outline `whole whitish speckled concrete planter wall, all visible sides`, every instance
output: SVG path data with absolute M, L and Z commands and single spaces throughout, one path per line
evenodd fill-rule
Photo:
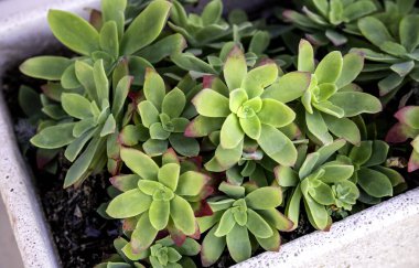
M 0 1 L 0 83 L 11 63 L 55 44 L 46 24 L 50 8 L 84 15 L 98 0 Z M 28 268 L 60 267 L 32 174 L 15 142 L 0 97 L 0 192 Z M 332 226 L 235 267 L 419 267 L 419 189 L 401 194 Z

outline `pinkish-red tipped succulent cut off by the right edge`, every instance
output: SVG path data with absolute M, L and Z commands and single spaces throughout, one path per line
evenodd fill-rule
M 408 163 L 408 171 L 413 172 L 419 169 L 419 106 L 406 106 L 395 117 L 399 122 L 388 131 L 386 141 L 399 143 L 413 139 L 410 143 L 413 150 Z

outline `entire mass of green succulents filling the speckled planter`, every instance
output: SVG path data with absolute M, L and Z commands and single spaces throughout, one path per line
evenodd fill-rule
M 207 267 L 226 253 L 239 262 L 278 250 L 301 215 L 326 231 L 336 215 L 402 191 L 386 165 L 390 147 L 365 121 L 417 81 L 412 2 L 302 1 L 304 14 L 283 12 L 307 33 L 293 33 L 287 68 L 276 28 L 238 10 L 225 19 L 221 0 L 200 14 L 179 1 L 103 0 L 90 22 L 50 11 L 75 54 L 25 61 L 22 73 L 46 84 L 42 94 L 22 87 L 20 103 L 40 168 L 63 151 L 65 187 L 110 178 L 103 214 L 123 224 L 117 254 L 98 267 Z M 412 139 L 413 172 L 419 108 L 396 118 L 386 141 Z

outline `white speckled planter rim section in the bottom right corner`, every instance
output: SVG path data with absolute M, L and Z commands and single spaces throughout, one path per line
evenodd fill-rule
M 419 267 L 419 189 L 354 214 L 235 268 Z

